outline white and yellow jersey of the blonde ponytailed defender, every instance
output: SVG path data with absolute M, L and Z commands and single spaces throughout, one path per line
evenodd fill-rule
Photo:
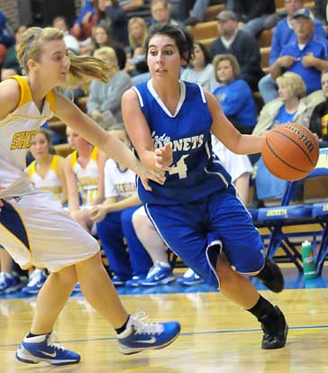
M 14 112 L 0 121 L 0 198 L 22 196 L 32 190 L 26 168 L 26 152 L 35 130 L 49 120 L 55 110 L 55 97 L 50 91 L 42 110 L 32 101 L 25 77 L 13 76 L 21 88 L 21 99 Z

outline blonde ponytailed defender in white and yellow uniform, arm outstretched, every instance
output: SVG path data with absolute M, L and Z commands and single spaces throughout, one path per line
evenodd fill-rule
M 50 276 L 39 293 L 31 331 L 16 352 L 25 363 L 77 363 L 80 356 L 53 342 L 53 325 L 77 280 L 96 310 L 114 327 L 124 354 L 167 346 L 178 337 L 179 323 L 144 323 L 126 313 L 101 262 L 99 246 L 59 200 L 32 186 L 25 155 L 34 132 L 55 115 L 125 167 L 145 180 L 159 183 L 159 171 L 148 171 L 123 142 L 105 132 L 55 89 L 84 78 L 106 81 L 110 68 L 104 61 L 71 55 L 63 33 L 32 27 L 17 47 L 26 76 L 0 83 L 0 237 L 1 244 L 22 268 L 48 268 Z

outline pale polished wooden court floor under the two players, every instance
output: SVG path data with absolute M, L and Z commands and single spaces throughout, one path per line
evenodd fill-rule
M 124 356 L 114 332 L 82 296 L 73 297 L 56 326 L 59 341 L 82 355 L 79 364 L 23 364 L 14 351 L 29 330 L 34 298 L 0 300 L 0 372 L 328 373 L 328 288 L 261 294 L 287 316 L 287 346 L 261 350 L 260 325 L 219 293 L 122 296 L 126 307 L 150 320 L 178 320 L 177 341 L 165 350 Z

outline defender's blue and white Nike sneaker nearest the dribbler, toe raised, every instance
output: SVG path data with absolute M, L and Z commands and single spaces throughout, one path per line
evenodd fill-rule
M 131 315 L 125 331 L 118 334 L 119 349 L 124 355 L 163 349 L 178 338 L 179 323 L 145 323 L 144 319 L 144 313 Z

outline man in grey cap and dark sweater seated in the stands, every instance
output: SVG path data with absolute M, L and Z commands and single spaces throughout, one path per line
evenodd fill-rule
M 211 59 L 217 54 L 232 54 L 241 67 L 241 79 L 256 91 L 263 76 L 258 41 L 251 34 L 238 29 L 237 17 L 232 11 L 218 14 L 217 28 L 220 36 L 210 46 Z

